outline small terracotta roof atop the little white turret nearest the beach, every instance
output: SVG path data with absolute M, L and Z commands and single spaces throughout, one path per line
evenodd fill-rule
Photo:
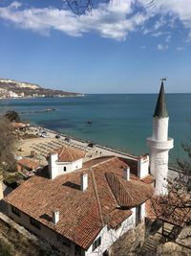
M 59 162 L 74 162 L 78 159 L 84 158 L 85 151 L 74 149 L 70 146 L 64 146 L 57 151 Z

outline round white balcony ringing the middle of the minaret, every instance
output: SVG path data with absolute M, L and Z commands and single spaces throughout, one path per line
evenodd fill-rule
M 167 141 L 156 141 L 152 137 L 147 138 L 147 146 L 157 151 L 169 151 L 174 148 L 174 139 L 168 138 Z

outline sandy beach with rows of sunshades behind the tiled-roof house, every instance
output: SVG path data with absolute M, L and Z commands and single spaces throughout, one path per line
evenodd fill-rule
M 40 137 L 36 134 L 46 134 L 46 137 Z M 86 152 L 84 161 L 96 158 L 102 155 L 119 155 L 127 158 L 137 158 L 137 156 L 115 151 L 100 145 L 90 145 L 86 141 L 69 137 L 66 134 L 60 134 L 50 129 L 40 127 L 30 127 L 25 134 L 35 135 L 35 138 L 20 139 L 17 144 L 16 154 L 21 157 L 31 157 L 40 161 L 42 165 L 47 164 L 46 156 L 49 152 L 55 151 L 63 146 L 71 146 L 74 149 Z M 58 137 L 58 138 L 55 138 Z

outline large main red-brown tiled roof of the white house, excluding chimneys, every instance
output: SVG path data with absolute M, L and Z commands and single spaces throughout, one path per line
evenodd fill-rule
M 128 209 L 122 209 L 117 202 L 106 174 L 117 176 L 124 190 L 131 192 L 132 201 L 126 206 L 142 203 L 152 196 L 151 185 L 134 179 L 126 181 L 122 177 L 126 163 L 117 157 L 102 157 L 87 162 L 83 169 L 53 180 L 35 175 L 15 189 L 6 201 L 31 216 L 55 232 L 87 249 L 96 239 L 103 225 L 116 227 L 131 215 Z M 131 167 L 131 166 L 130 166 Z M 88 174 L 88 188 L 80 190 L 80 175 Z M 110 176 L 110 175 L 109 175 Z M 119 196 L 120 198 L 120 196 Z M 53 224 L 52 211 L 59 211 L 60 220 Z

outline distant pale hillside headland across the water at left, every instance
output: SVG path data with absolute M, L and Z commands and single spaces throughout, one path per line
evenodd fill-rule
M 36 98 L 36 97 L 77 97 L 81 93 L 64 92 L 43 88 L 37 84 L 23 81 L 0 79 L 0 98 Z

